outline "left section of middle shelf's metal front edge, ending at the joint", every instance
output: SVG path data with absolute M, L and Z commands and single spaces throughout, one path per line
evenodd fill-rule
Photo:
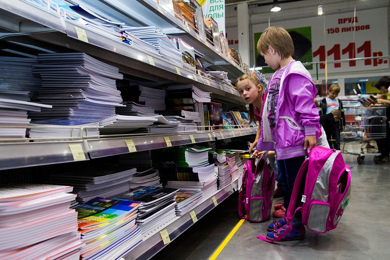
M 89 160 L 83 140 L 0 143 L 0 170 L 75 161 L 69 146 L 74 144 Z

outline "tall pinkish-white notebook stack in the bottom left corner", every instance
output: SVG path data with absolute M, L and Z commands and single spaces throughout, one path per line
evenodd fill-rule
M 0 189 L 0 259 L 78 259 L 83 245 L 70 186 Z

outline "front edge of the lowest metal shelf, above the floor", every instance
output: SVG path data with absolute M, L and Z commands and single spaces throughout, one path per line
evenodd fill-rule
M 216 206 L 212 200 L 215 197 L 217 203 L 221 203 L 223 200 L 228 198 L 238 189 L 238 180 L 232 181 L 227 186 L 218 190 L 215 194 L 211 195 L 209 198 L 203 199 L 203 202 L 197 205 L 193 210 L 195 211 L 196 218 L 199 220 L 205 216 L 209 211 L 214 209 Z M 217 205 L 218 206 L 218 205 Z M 179 235 L 186 231 L 189 227 L 194 224 L 190 213 L 187 213 L 184 216 L 176 217 L 173 220 L 168 221 L 167 223 L 157 227 L 153 232 L 144 236 L 144 241 L 139 244 L 133 251 L 124 257 L 125 260 L 128 259 L 150 259 L 157 252 L 163 249 L 166 245 L 162 241 L 160 231 L 166 229 L 170 240 L 175 240 Z

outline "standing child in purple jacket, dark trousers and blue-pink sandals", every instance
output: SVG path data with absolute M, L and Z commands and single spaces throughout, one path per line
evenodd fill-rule
M 307 151 L 320 137 L 318 109 L 314 104 L 317 89 L 307 69 L 300 61 L 292 59 L 294 45 L 285 29 L 267 28 L 257 42 L 257 51 L 271 68 L 276 69 L 267 87 L 257 150 L 275 150 L 278 181 L 287 210 L 299 168 Z M 273 221 L 268 226 L 267 239 L 274 240 L 282 234 L 286 224 L 285 216 Z M 305 232 L 302 215 L 297 211 L 292 220 L 292 231 L 281 241 L 304 239 Z

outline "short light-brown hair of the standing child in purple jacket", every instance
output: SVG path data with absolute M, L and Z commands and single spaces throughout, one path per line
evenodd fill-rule
M 282 27 L 268 27 L 265 29 L 257 42 L 257 52 L 266 54 L 269 46 L 273 47 L 282 59 L 292 57 L 294 54 L 292 38 Z

